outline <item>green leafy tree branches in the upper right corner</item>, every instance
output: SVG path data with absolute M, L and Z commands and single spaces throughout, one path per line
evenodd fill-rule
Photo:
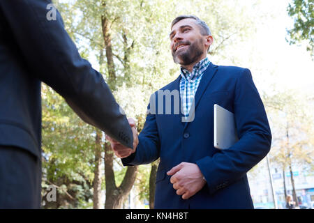
M 311 52 L 311 56 L 313 56 L 314 50 L 313 3 L 313 0 L 294 0 L 287 7 L 288 15 L 294 19 L 293 29 L 287 30 L 290 38 L 287 42 L 296 44 L 301 43 L 302 40 L 306 40 L 308 42 L 306 49 Z

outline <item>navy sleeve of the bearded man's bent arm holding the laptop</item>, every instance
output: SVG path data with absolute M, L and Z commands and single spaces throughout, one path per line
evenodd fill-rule
M 244 69 L 237 79 L 234 118 L 239 141 L 231 148 L 215 153 L 213 157 L 204 157 L 196 162 L 207 180 L 210 193 L 245 176 L 267 155 L 271 147 L 267 115 L 248 69 Z

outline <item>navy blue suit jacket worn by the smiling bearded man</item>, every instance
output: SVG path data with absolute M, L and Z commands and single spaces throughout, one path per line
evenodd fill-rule
M 180 78 L 162 90 L 179 91 Z M 214 148 L 215 103 L 233 112 L 237 125 L 239 141 L 225 150 Z M 250 70 L 211 63 L 195 94 L 194 120 L 184 123 L 181 116 L 173 109 L 148 114 L 137 151 L 122 159 L 124 165 L 138 165 L 160 157 L 155 208 L 253 208 L 246 172 L 269 152 L 271 130 Z M 197 164 L 207 180 L 187 200 L 166 174 L 181 162 Z

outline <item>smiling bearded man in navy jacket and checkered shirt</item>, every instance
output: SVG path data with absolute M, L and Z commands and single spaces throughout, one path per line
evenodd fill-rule
M 154 93 L 136 150 L 108 137 L 112 149 L 124 165 L 160 158 L 155 208 L 253 208 L 246 173 L 269 152 L 271 130 L 251 72 L 211 63 L 213 38 L 195 16 L 177 17 L 170 41 L 181 75 Z M 237 126 L 239 141 L 224 150 L 214 148 L 214 104 Z

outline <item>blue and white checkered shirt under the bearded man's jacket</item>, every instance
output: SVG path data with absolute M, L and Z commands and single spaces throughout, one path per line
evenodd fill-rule
M 180 96 L 181 96 L 181 105 L 183 109 L 183 114 L 185 117 L 188 116 L 190 112 L 190 107 L 194 100 L 197 87 L 200 84 L 202 75 L 207 69 L 211 62 L 206 57 L 202 61 L 198 62 L 193 66 L 193 71 L 188 72 L 188 70 L 181 68 L 181 80 L 180 80 Z

